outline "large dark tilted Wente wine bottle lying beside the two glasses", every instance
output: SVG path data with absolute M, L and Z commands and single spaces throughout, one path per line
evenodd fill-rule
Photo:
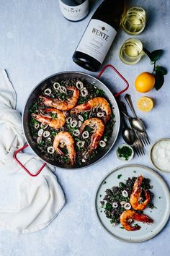
M 124 0 L 104 0 L 86 27 L 73 61 L 84 69 L 97 72 L 120 27 Z

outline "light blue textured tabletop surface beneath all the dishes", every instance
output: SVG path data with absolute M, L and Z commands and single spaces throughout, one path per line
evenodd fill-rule
M 93 1 L 88 17 L 81 22 L 68 22 L 58 10 L 57 0 L 0 0 L 0 68 L 6 69 L 17 91 L 17 108 L 22 111 L 30 90 L 40 80 L 55 72 L 79 70 L 71 60 L 73 51 L 89 22 L 95 7 Z M 148 13 L 146 29 L 137 37 L 148 50 L 164 49 L 159 61 L 169 68 L 170 7 L 169 0 L 133 0 Z M 135 92 L 134 80 L 143 71 L 152 71 L 150 61 L 144 57 L 139 64 L 127 66 L 118 58 L 124 40 L 130 36 L 120 31 L 105 61 L 113 64 L 130 82 L 129 93 L 133 101 L 141 96 Z M 90 72 L 87 72 L 90 73 Z M 94 74 L 97 75 L 97 74 Z M 119 90 L 116 77 L 107 72 L 104 77 L 113 90 Z M 112 82 L 114 80 L 114 82 Z M 155 100 L 155 108 L 148 114 L 138 112 L 146 121 L 151 142 L 170 137 L 169 131 L 169 74 L 160 91 L 147 93 Z M 119 136 L 114 148 L 99 163 L 81 171 L 56 170 L 58 180 L 66 194 L 66 206 L 47 229 L 35 234 L 17 235 L 0 229 L 0 256 L 167 256 L 170 250 L 170 223 L 155 238 L 140 244 L 125 244 L 109 236 L 99 225 L 94 212 L 94 192 L 102 177 L 112 168 L 122 165 L 115 156 L 115 148 L 122 143 Z M 146 156 L 135 156 L 130 163 L 152 167 Z M 170 174 L 161 174 L 170 183 Z M 9 187 L 12 189 L 12 187 Z

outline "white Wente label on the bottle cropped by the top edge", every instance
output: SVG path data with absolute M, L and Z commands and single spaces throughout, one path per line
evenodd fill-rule
M 72 21 L 81 20 L 84 17 L 86 17 L 86 15 L 89 12 L 89 1 L 88 0 L 84 1 L 83 4 L 79 4 L 76 7 L 70 7 L 67 4 L 63 4 L 63 2 L 61 0 L 59 0 L 59 4 L 61 7 L 61 13 L 68 20 L 72 20 Z

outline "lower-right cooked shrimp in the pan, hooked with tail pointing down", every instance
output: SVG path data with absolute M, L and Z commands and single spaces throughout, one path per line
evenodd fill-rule
M 83 132 L 86 125 L 91 125 L 94 127 L 94 134 L 91 136 L 91 144 L 89 145 L 89 153 L 96 149 L 99 145 L 99 141 L 103 135 L 104 132 L 104 124 L 101 119 L 94 117 L 91 119 L 88 119 L 84 121 L 84 123 L 81 125 L 80 132 Z

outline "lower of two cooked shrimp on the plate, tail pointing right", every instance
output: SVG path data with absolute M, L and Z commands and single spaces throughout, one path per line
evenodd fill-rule
M 153 220 L 145 214 L 139 214 L 135 210 L 124 210 L 120 216 L 120 223 L 124 229 L 128 231 L 135 231 L 140 229 L 140 226 L 130 226 L 130 223 L 135 221 L 141 221 L 143 223 L 153 223 Z

